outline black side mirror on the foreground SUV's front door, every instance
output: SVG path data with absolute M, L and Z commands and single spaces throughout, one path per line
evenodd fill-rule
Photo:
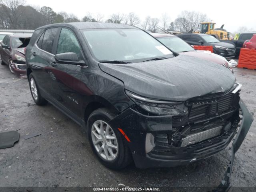
M 83 60 L 79 60 L 77 54 L 74 52 L 59 53 L 59 54 L 56 54 L 54 58 L 56 62 L 60 64 L 81 65 L 81 66 L 85 65 L 85 62 Z

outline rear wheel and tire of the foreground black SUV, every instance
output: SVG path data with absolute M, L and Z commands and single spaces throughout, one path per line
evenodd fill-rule
M 45 100 L 40 94 L 40 90 L 38 89 L 36 80 L 35 80 L 32 73 L 30 73 L 28 81 L 29 81 L 30 92 L 31 92 L 31 95 L 32 95 L 32 98 L 33 98 L 34 102 L 37 105 L 47 104 L 47 100 Z

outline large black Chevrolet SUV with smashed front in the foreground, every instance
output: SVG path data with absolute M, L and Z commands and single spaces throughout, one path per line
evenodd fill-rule
M 38 28 L 26 69 L 36 104 L 48 101 L 85 127 L 92 150 L 113 169 L 132 160 L 146 168 L 206 158 L 232 140 L 240 109 L 240 140 L 252 123 L 230 70 L 178 55 L 133 26 Z

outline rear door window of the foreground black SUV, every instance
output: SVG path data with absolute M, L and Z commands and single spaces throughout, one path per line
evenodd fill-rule
M 50 28 L 46 29 L 44 32 L 44 38 L 42 41 L 42 50 L 45 50 L 46 52 L 52 53 L 52 47 L 54 39 L 56 38 L 58 28 Z

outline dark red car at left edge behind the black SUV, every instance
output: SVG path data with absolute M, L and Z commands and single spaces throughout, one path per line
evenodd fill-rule
M 0 43 L 1 64 L 8 65 L 12 74 L 26 76 L 25 48 L 32 34 L 8 34 Z

